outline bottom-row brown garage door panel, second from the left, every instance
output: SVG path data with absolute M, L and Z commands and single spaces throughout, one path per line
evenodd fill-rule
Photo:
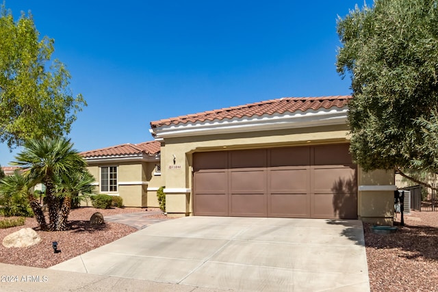
M 267 217 L 265 194 L 231 194 L 230 216 Z

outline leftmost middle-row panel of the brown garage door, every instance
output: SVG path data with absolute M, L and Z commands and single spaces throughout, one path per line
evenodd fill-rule
M 227 194 L 228 173 L 221 171 L 198 172 L 194 179 L 194 187 L 197 192 L 214 192 Z

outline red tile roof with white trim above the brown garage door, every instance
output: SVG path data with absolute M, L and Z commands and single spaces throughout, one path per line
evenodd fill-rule
M 151 122 L 156 140 L 346 124 L 352 96 L 284 97 Z

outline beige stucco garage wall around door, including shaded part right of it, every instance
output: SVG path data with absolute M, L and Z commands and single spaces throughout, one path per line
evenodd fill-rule
M 162 176 L 166 185 L 166 211 L 170 216 L 192 215 L 192 153 L 281 146 L 348 143 L 344 125 L 275 131 L 166 138 L 161 149 Z M 173 162 L 175 155 L 175 163 Z M 394 185 L 391 172 L 365 173 L 359 170 L 358 185 Z M 394 191 L 361 191 L 359 218 L 392 224 Z

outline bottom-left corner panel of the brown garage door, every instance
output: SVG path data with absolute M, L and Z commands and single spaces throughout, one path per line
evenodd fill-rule
M 196 194 L 194 211 L 199 216 L 228 216 L 228 194 Z

